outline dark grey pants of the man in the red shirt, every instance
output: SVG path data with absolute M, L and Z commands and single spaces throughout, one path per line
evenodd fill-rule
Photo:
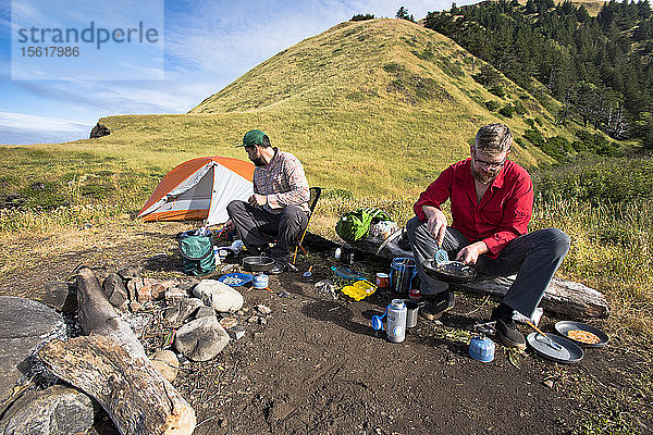
M 432 259 L 438 250 L 438 244 L 427 229 L 427 224 L 412 217 L 406 224 L 406 231 L 412 245 L 422 295 L 446 290 L 448 285 L 427 275 L 421 265 L 424 260 Z M 467 245 L 470 241 L 460 232 L 446 228 L 442 249 L 448 252 L 451 260 Z M 530 316 L 568 251 L 569 236 L 565 233 L 556 228 L 539 229 L 510 240 L 495 259 L 486 254 L 479 256 L 475 268 L 478 273 L 491 276 L 509 276 L 516 273 L 517 278 L 508 288 L 503 302 Z

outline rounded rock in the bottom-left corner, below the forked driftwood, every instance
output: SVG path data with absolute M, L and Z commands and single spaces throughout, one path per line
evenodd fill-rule
M 0 421 L 2 434 L 85 434 L 93 425 L 90 397 L 63 385 L 27 391 Z

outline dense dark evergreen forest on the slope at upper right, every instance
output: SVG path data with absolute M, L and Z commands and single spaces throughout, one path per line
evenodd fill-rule
M 554 0 L 453 3 L 448 12 L 429 12 L 424 26 L 456 40 L 535 97 L 545 86 L 563 103 L 558 123 L 575 119 L 653 149 L 648 0 L 611 0 L 596 17 L 569 0 L 557 5 Z M 476 78 L 491 82 L 489 75 L 480 71 Z

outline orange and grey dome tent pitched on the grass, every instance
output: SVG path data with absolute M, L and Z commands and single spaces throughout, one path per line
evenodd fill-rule
M 138 217 L 144 221 L 207 220 L 226 222 L 226 206 L 254 194 L 254 164 L 229 157 L 188 160 L 168 173 Z

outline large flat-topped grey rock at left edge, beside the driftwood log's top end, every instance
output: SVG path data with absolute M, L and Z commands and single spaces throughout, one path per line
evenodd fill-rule
M 53 338 L 65 338 L 61 314 L 29 299 L 0 296 L 0 415 L 23 376 L 27 357 Z

